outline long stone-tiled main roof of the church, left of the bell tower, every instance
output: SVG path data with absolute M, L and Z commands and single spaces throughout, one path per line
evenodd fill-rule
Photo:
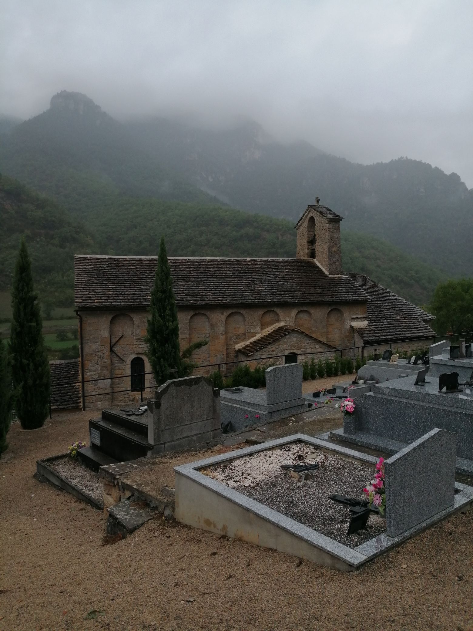
M 149 306 L 156 257 L 74 257 L 76 309 Z M 309 259 L 169 257 L 177 305 L 366 302 L 349 276 L 327 276 Z

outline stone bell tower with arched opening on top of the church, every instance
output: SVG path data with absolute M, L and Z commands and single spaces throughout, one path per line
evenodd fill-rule
M 322 206 L 318 198 L 296 223 L 297 259 L 313 259 L 329 274 L 342 274 L 340 222 L 342 217 Z

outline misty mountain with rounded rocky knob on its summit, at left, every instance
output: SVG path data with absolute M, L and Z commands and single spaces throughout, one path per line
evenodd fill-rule
M 78 213 L 110 195 L 215 201 L 143 151 L 93 100 L 62 91 L 49 110 L 1 136 L 0 172 Z

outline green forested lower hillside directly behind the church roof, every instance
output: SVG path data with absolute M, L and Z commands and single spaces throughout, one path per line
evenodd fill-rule
M 43 301 L 73 304 L 74 254 L 156 255 L 161 235 L 170 256 L 295 256 L 296 232 L 287 220 L 232 208 L 156 199 L 104 196 L 86 225 L 49 198 L 0 177 L 0 292 L 11 283 L 21 235 Z M 368 274 L 417 304 L 428 302 L 445 276 L 386 242 L 342 235 L 345 271 Z

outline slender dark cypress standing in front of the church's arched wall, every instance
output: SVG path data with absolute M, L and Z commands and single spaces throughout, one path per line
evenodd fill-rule
M 176 377 L 177 374 L 171 373 L 170 370 L 179 370 L 180 367 L 179 323 L 164 237 L 161 237 L 144 341 L 148 345 L 148 359 L 156 383 L 160 386 L 166 380 Z

